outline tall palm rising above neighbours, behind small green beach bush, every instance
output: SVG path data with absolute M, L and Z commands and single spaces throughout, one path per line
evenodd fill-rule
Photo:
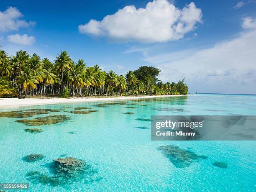
M 61 54 L 56 56 L 56 69 L 61 73 L 61 92 L 64 90 L 64 70 L 70 69 L 70 65 L 72 63 L 72 60 L 70 59 L 70 56 L 67 54 L 67 51 L 61 51 Z

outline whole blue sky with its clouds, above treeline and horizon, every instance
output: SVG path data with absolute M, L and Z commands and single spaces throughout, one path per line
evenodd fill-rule
M 151 1 L 5 0 L 0 45 L 51 60 L 66 50 L 118 74 L 152 65 L 190 92 L 256 94 L 256 1 Z

